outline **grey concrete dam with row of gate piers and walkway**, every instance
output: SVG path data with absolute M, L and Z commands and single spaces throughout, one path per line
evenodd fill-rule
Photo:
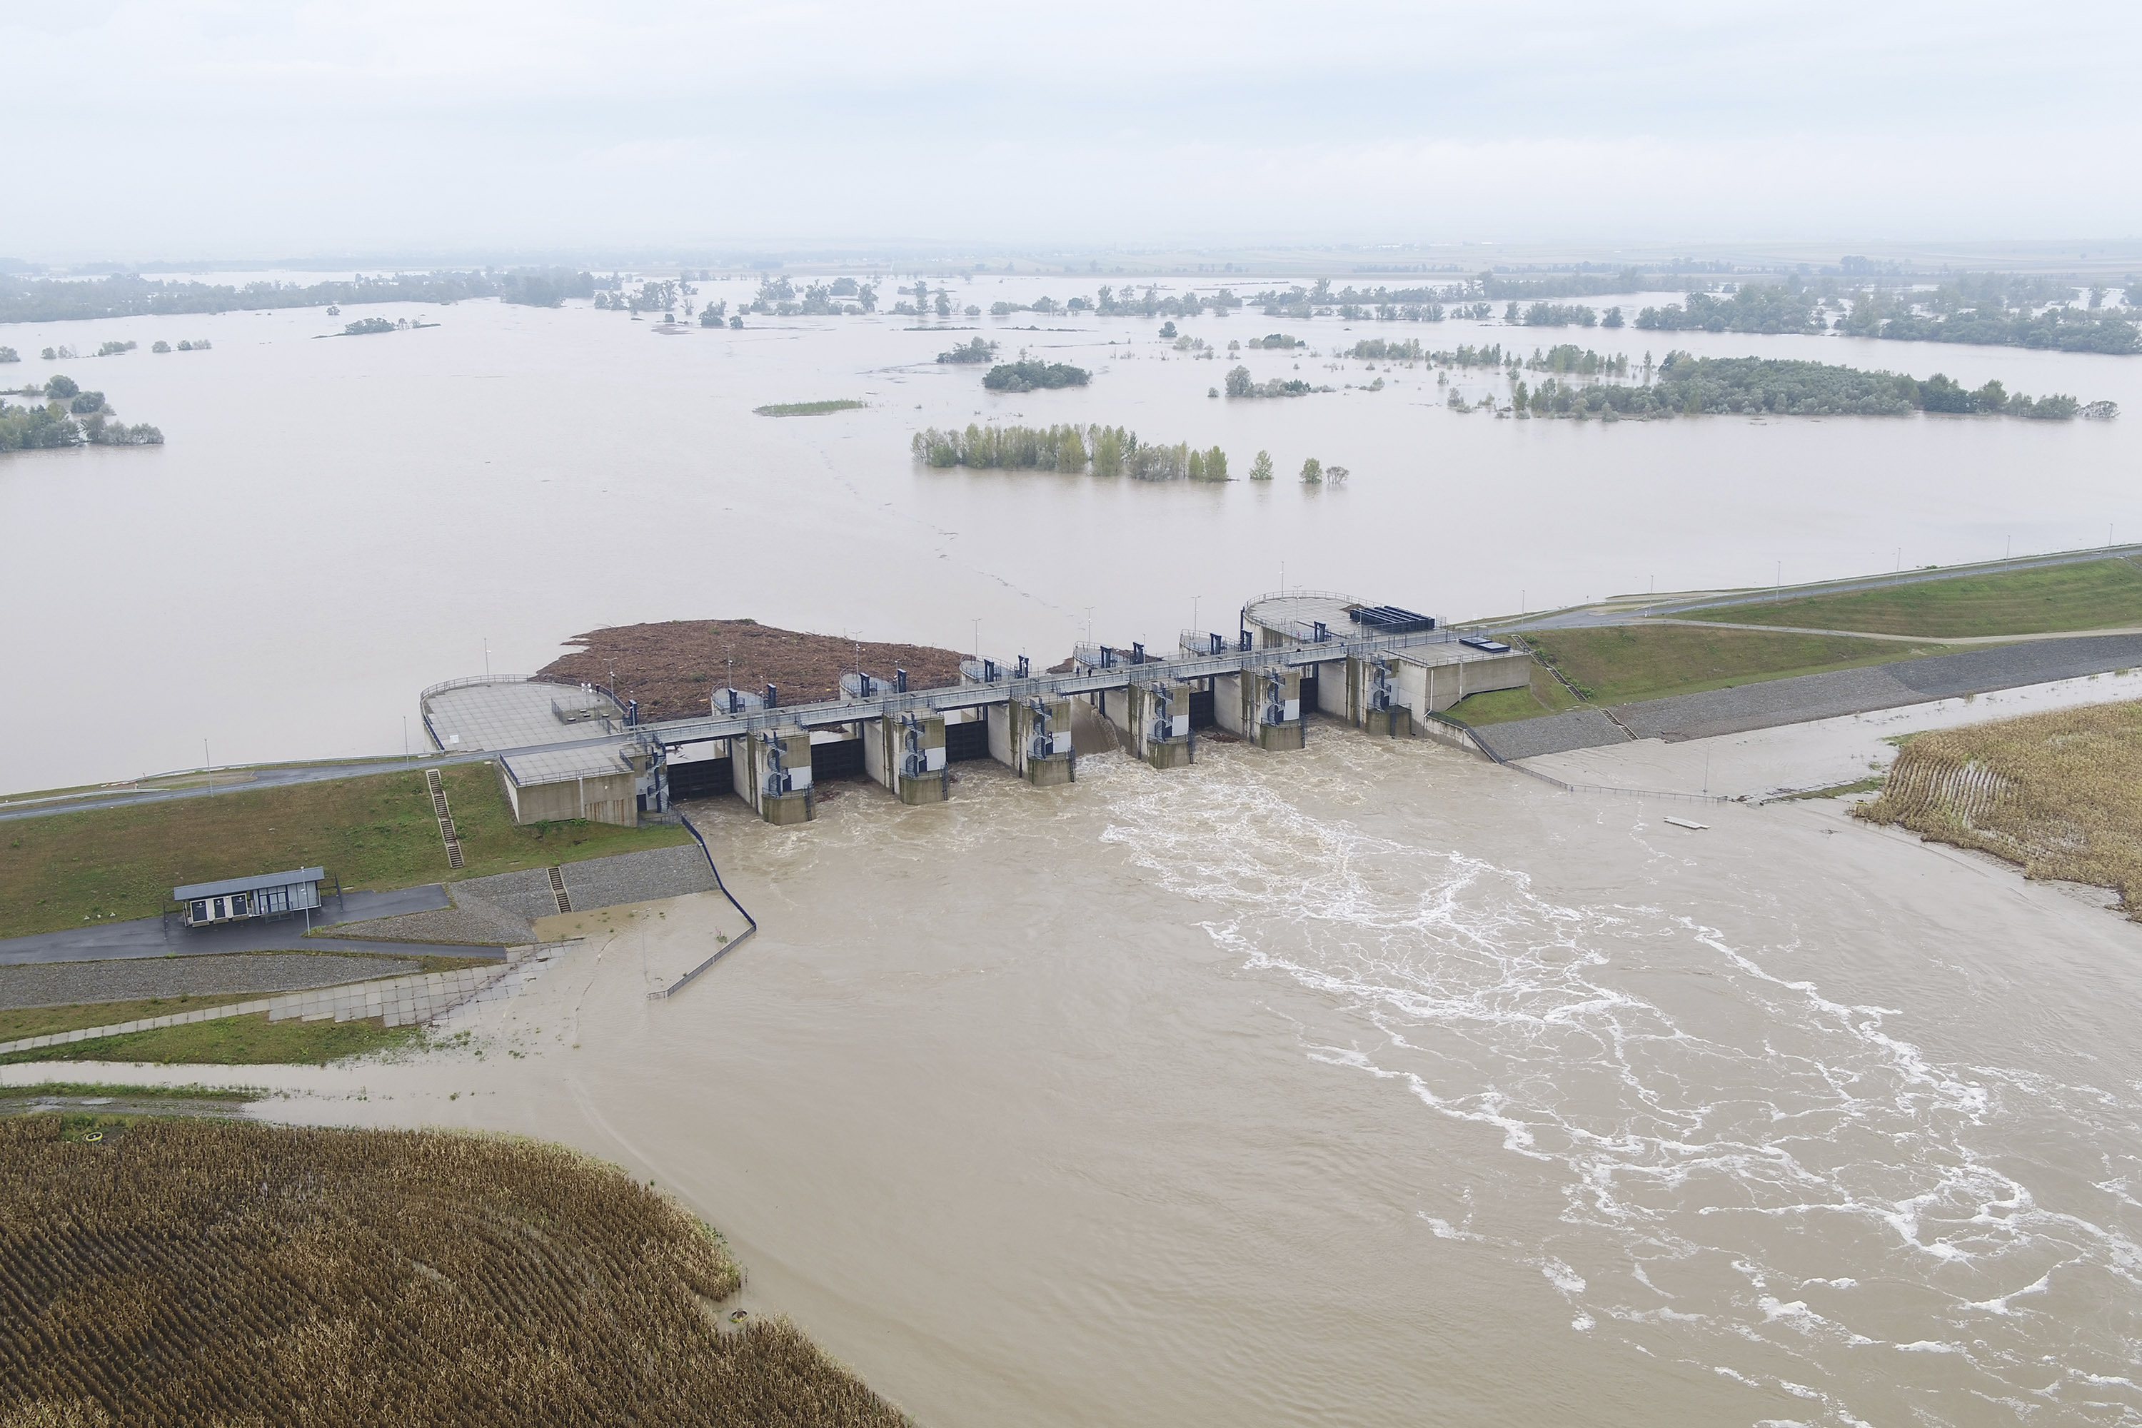
M 705 717 L 643 721 L 630 700 L 531 679 L 465 679 L 422 696 L 441 751 L 495 749 L 523 822 L 636 822 L 673 799 L 735 794 L 773 824 L 816 814 L 814 788 L 870 777 L 902 803 L 951 796 L 951 764 L 992 758 L 1028 784 L 1077 779 L 1077 704 L 1155 769 L 1195 762 L 1219 728 L 1259 749 L 1302 747 L 1302 719 L 1330 715 L 1373 736 L 1433 730 L 1467 694 L 1521 689 L 1532 659 L 1495 640 L 1339 593 L 1283 591 L 1240 610 L 1234 634 L 1185 629 L 1144 644 L 1082 644 L 1065 672 L 1022 657 L 964 659 L 957 685 L 850 670 L 840 698 L 782 707 L 773 689 L 715 689 Z

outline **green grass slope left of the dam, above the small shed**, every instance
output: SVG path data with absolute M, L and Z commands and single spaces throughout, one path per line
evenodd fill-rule
M 182 882 L 326 867 L 345 888 L 480 878 L 681 844 L 683 829 L 518 826 L 491 764 L 439 771 L 461 833 L 450 869 L 422 773 L 287 784 L 135 807 L 24 818 L 0 829 L 0 938 L 156 916 Z M 330 882 L 332 888 L 332 882 Z M 302 946 L 302 923 L 291 944 Z

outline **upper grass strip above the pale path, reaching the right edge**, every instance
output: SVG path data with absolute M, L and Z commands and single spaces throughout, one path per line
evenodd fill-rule
M 1926 638 L 2050 634 L 2142 625 L 2142 567 L 2127 559 L 1951 576 L 1840 595 L 1688 610 L 1733 625 L 1864 629 Z

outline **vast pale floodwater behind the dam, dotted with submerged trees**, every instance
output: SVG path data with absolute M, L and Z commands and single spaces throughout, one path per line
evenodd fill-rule
M 951 287 L 987 310 L 1099 283 Z M 750 289 L 703 283 L 700 302 L 735 306 Z M 0 458 L 0 599 L 30 692 L 0 711 L 0 788 L 195 766 L 203 739 L 216 762 L 392 754 L 416 692 L 482 672 L 486 642 L 493 672 L 527 672 L 600 623 L 754 617 L 970 649 L 979 621 L 987 653 L 1054 662 L 1088 627 L 1161 647 L 1193 612 L 1225 627 L 1281 582 L 1474 617 L 2142 531 L 2142 364 L 2125 358 L 1257 310 L 1178 319 L 1217 360 L 1174 351 L 1157 319 L 1137 317 L 750 317 L 741 332 L 666 336 L 585 304 L 362 315 L 439 325 L 315 340 L 343 319 L 276 310 L 0 328 L 26 353 L 4 377 L 66 370 L 169 439 Z M 1309 347 L 1245 353 L 1259 381 L 1339 390 L 1206 396 L 1234 364 L 1227 343 L 1270 330 Z M 981 368 L 934 362 L 977 334 L 1002 358 L 1086 366 L 1092 383 L 990 394 Z M 148 351 L 199 336 L 214 347 Z M 1510 422 L 1448 411 L 1427 368 L 1334 370 L 1332 351 L 1362 336 L 1527 355 L 1574 340 L 1636 364 L 1671 347 L 1821 358 L 1968 385 L 1998 377 L 2131 415 Z M 107 338 L 139 349 L 36 358 Z M 1377 377 L 1382 392 L 1362 390 Z M 1459 385 L 1506 394 L 1499 379 Z M 838 398 L 865 407 L 754 415 Z M 1236 477 L 1268 450 L 1279 480 L 936 471 L 908 452 L 923 426 L 992 420 L 1219 445 Z M 1354 475 L 1302 486 L 1309 456 Z M 420 730 L 409 739 L 422 747 Z

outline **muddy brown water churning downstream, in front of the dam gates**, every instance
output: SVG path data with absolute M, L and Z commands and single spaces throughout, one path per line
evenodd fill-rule
M 737 811 L 683 996 L 619 927 L 255 1113 L 615 1158 L 927 1424 L 2133 1422 L 2138 929 L 1686 807 L 1332 730 Z

